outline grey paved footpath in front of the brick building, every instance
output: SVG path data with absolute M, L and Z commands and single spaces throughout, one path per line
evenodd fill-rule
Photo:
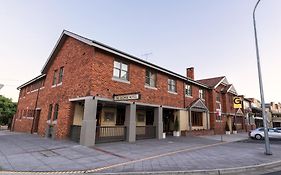
M 0 174 L 262 174 L 281 170 L 281 144 L 272 144 L 273 155 L 266 156 L 264 144 L 243 141 L 247 139 L 246 133 L 224 135 L 224 142 L 220 136 L 168 137 L 88 148 L 0 131 Z

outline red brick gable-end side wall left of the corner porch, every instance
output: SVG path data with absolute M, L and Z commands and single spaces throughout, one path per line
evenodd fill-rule
M 72 108 L 70 98 L 91 95 L 93 82 L 93 55 L 94 48 L 73 38 L 67 37 L 59 52 L 55 55 L 51 66 L 46 72 L 44 89 L 40 90 L 38 107 L 41 108 L 38 133 L 45 135 L 49 104 L 59 104 L 59 113 L 56 129 L 56 138 L 68 137 L 72 122 Z M 54 70 L 64 67 L 62 85 L 52 87 Z M 18 109 L 26 106 L 35 106 L 36 93 L 26 94 L 20 98 Z M 52 119 L 51 119 L 52 120 Z M 31 120 L 30 120 L 31 121 Z M 29 132 L 32 122 L 16 120 L 15 131 Z

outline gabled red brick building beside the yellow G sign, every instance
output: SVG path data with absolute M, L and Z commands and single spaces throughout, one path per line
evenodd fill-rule
M 211 129 L 215 134 L 224 133 L 225 125 L 233 131 L 233 125 L 236 130 L 245 130 L 245 120 L 242 108 L 233 107 L 233 98 L 238 96 L 234 86 L 228 82 L 225 76 L 198 80 L 198 82 L 207 85 L 210 90 L 209 111 Z M 219 115 L 220 114 L 220 115 Z

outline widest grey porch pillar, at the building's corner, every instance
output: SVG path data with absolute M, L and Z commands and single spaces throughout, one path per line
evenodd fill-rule
M 84 146 L 94 146 L 96 139 L 96 116 L 98 100 L 93 97 L 85 99 L 84 118 L 82 121 L 80 144 Z

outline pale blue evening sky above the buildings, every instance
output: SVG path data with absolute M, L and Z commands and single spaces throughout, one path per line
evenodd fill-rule
M 225 75 L 259 99 L 252 11 L 256 0 L 1 1 L 0 94 L 40 75 L 63 29 L 195 79 Z M 281 1 L 257 12 L 265 99 L 281 101 Z M 148 57 L 143 56 L 152 53 Z

